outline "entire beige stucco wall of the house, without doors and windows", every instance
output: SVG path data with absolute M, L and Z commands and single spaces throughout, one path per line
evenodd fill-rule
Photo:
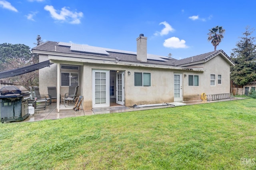
M 48 58 L 40 55 L 40 61 Z M 58 63 L 60 61 L 54 61 Z M 159 69 L 150 67 L 139 67 L 130 65 L 76 63 L 73 61 L 61 61 L 63 64 L 80 65 L 78 95 L 83 95 L 83 109 L 92 109 L 92 70 L 119 70 L 124 71 L 124 100 L 126 106 L 134 104 L 156 104 L 174 101 L 174 73 L 182 73 L 183 101 L 200 100 L 202 93 L 219 94 L 230 93 L 230 66 L 221 56 L 213 57 L 206 63 L 193 65 L 194 68 L 204 68 L 206 71 L 187 71 L 173 69 Z M 130 71 L 130 75 L 128 75 Z M 134 72 L 151 73 L 150 87 L 135 87 Z M 216 85 L 210 86 L 210 74 L 216 75 Z M 218 84 L 218 74 L 222 75 L 222 84 Z M 185 76 L 186 75 L 186 76 Z M 188 86 L 188 75 L 199 75 L 199 86 Z M 40 93 L 47 94 L 47 86 L 57 87 L 57 64 L 40 69 Z M 60 93 L 68 92 L 68 87 L 60 87 Z

